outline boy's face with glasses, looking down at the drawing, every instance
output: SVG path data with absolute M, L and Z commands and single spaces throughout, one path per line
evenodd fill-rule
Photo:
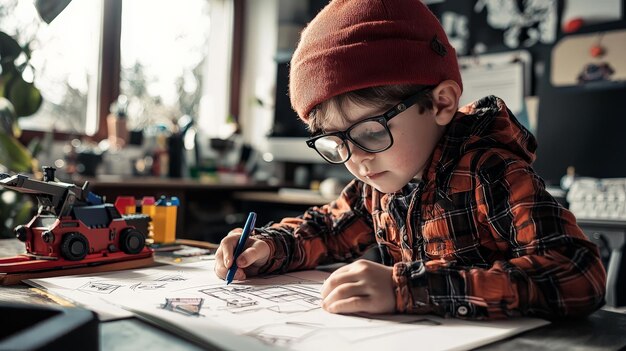
M 346 130 L 368 117 L 377 116 L 385 108 L 358 105 L 351 101 L 343 104 L 347 118 L 340 118 L 335 105 L 329 106 L 326 132 Z M 421 177 L 428 167 L 431 154 L 444 133 L 445 125 L 439 125 L 432 110 L 419 112 L 413 105 L 389 121 L 393 136 L 391 148 L 369 153 L 348 141 L 352 156 L 345 165 L 355 177 L 383 193 L 400 190 L 411 179 Z

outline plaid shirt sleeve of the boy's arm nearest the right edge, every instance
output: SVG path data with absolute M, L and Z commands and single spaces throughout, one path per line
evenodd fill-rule
M 491 236 L 505 259 L 490 267 L 398 263 L 399 309 L 467 319 L 562 318 L 598 309 L 606 290 L 598 248 L 532 168 L 492 153 L 475 179 L 478 235 Z

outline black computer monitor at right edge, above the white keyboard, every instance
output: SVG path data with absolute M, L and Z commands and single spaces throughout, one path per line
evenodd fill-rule
M 547 87 L 540 94 L 535 170 L 558 185 L 567 167 L 626 177 L 626 87 Z

